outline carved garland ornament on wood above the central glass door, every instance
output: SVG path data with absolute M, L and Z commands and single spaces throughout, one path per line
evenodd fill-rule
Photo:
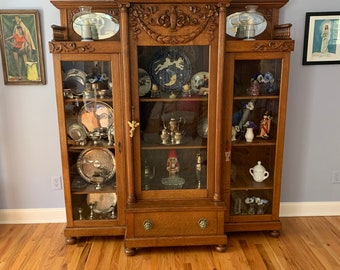
M 207 32 L 214 38 L 218 7 L 215 5 L 134 5 L 130 26 L 135 39 L 144 32 L 161 44 L 179 44 Z

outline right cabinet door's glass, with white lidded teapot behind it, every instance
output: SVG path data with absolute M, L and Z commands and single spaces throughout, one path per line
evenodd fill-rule
M 282 59 L 236 60 L 230 216 L 272 214 L 277 171 Z

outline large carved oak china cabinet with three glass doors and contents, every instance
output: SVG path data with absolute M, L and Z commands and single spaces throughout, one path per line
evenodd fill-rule
M 51 0 L 68 243 L 124 235 L 133 255 L 278 234 L 286 2 Z M 256 31 L 231 29 L 254 4 Z

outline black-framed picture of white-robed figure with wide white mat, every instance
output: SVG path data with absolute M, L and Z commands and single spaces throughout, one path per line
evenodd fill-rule
M 340 64 L 340 11 L 307 12 L 303 65 Z

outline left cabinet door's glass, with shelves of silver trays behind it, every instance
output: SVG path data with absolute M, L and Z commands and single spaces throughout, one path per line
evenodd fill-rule
M 111 61 L 62 61 L 68 175 L 72 220 L 117 219 L 115 119 Z M 64 164 L 66 163 L 64 160 Z M 69 191 L 69 193 L 67 192 Z

